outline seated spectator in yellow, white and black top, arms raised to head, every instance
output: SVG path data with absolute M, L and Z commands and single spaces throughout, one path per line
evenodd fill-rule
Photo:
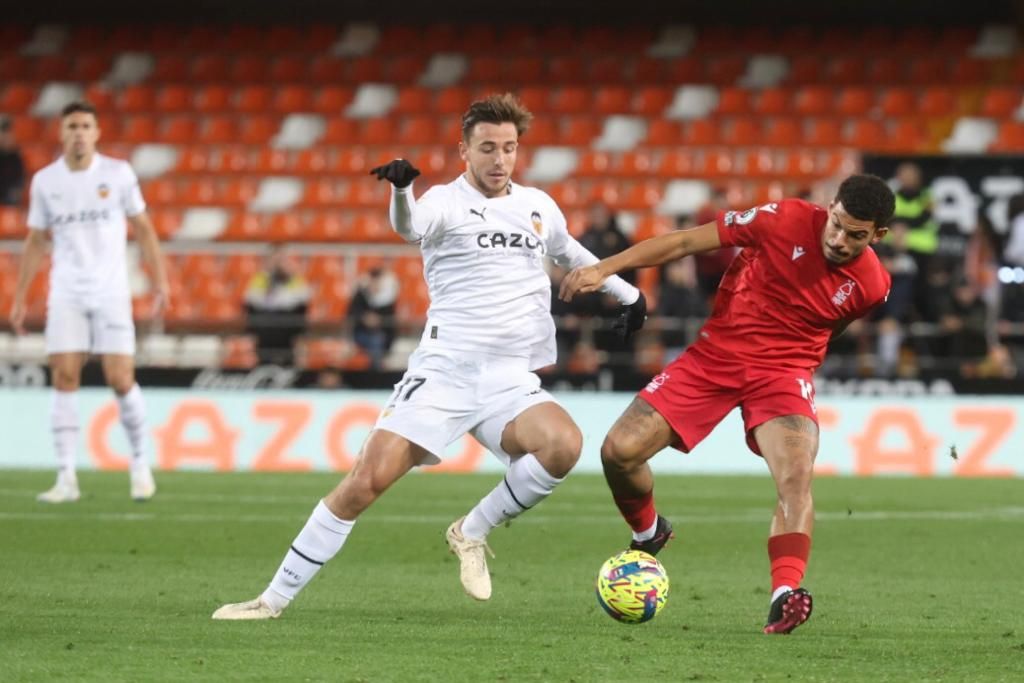
M 309 287 L 283 245 L 271 249 L 264 268 L 249 281 L 245 303 L 260 362 L 294 365 L 295 340 L 306 329 Z

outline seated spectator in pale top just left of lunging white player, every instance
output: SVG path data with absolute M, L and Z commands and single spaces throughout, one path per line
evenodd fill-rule
M 398 279 L 384 266 L 371 268 L 359 282 L 348 305 L 352 339 L 370 354 L 370 367 L 379 370 L 395 336 Z

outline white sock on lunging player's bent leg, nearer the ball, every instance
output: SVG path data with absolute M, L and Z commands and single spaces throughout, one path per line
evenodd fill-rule
M 476 504 L 462 522 L 467 539 L 485 539 L 490 529 L 546 499 L 562 479 L 551 476 L 531 453 L 512 461 L 505 479 Z

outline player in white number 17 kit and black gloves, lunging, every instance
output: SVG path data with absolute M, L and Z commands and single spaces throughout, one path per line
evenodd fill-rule
M 504 480 L 445 535 L 466 593 L 487 600 L 487 533 L 547 498 L 575 465 L 580 429 L 532 371 L 555 360 L 545 257 L 569 267 L 597 258 L 569 236 L 550 197 L 511 180 L 530 118 L 512 95 L 474 102 L 459 142 L 466 172 L 419 202 L 411 183 L 420 172 L 409 162 L 372 171 L 393 185 L 395 231 L 423 252 L 430 293 L 423 339 L 354 468 L 313 510 L 269 587 L 213 618 L 279 616 L 341 550 L 364 510 L 412 468 L 439 462 L 467 432 L 508 465 Z M 640 329 L 640 291 L 618 278 L 604 290 L 625 305 L 624 334 Z

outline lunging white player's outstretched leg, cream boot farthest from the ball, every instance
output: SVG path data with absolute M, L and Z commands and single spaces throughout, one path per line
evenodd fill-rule
M 355 466 L 313 509 L 292 541 L 270 585 L 255 600 L 227 604 L 216 620 L 275 618 L 331 558 L 338 554 L 356 517 L 429 452 L 383 429 L 370 433 Z

